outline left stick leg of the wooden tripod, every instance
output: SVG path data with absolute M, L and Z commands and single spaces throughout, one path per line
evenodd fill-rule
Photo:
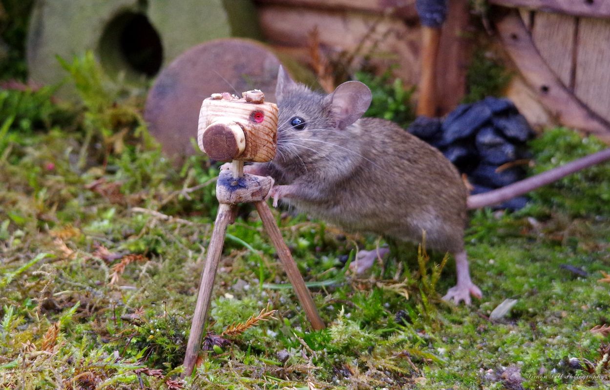
M 218 214 L 214 223 L 214 230 L 210 238 L 210 245 L 207 247 L 206 265 L 201 273 L 201 283 L 199 284 L 199 294 L 195 305 L 195 314 L 191 324 L 190 335 L 188 336 L 187 352 L 184 356 L 184 374 L 190 375 L 195 367 L 199 348 L 201 347 L 201 336 L 206 324 L 207 310 L 210 307 L 210 298 L 212 298 L 212 288 L 214 286 L 214 278 L 220 255 L 223 251 L 224 235 L 227 231 L 227 226 L 232 223 L 235 218 L 236 208 L 234 205 L 220 203 Z

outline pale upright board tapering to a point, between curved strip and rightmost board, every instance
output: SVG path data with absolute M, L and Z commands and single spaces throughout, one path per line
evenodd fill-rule
M 540 55 L 568 88 L 574 68 L 576 23 L 574 16 L 537 12 L 531 31 Z

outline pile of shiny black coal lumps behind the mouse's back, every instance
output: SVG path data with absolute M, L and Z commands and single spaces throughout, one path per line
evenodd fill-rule
M 487 97 L 480 102 L 459 105 L 445 120 L 420 116 L 407 129 L 442 151 L 468 176 L 472 194 L 508 186 L 525 178 L 520 159 L 529 159 L 526 141 L 534 133 L 508 99 Z M 514 198 L 498 208 L 517 210 L 526 197 Z

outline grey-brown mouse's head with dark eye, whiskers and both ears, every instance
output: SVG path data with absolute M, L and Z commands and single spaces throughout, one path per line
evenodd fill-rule
M 333 147 L 325 142 L 345 144 L 349 138 L 346 128 L 360 119 L 371 103 L 371 91 L 361 82 L 343 83 L 325 95 L 295 83 L 281 66 L 275 96 L 279 159 L 327 156 Z

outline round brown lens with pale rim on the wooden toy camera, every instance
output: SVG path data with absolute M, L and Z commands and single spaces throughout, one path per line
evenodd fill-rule
M 203 152 L 216 161 L 231 161 L 239 157 L 246 148 L 243 128 L 232 120 L 213 122 L 202 134 L 199 145 Z

